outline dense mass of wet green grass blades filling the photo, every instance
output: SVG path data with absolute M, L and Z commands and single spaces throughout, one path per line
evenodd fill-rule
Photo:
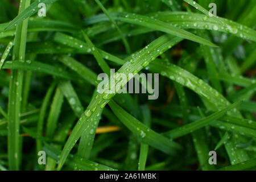
M 255 0 L 1 0 L 0 169 L 255 170 L 255 18 Z M 159 98 L 97 93 L 110 68 L 159 73 Z

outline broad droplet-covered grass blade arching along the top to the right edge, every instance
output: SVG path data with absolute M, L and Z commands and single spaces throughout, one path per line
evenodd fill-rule
M 116 20 L 119 20 L 119 16 L 126 16 L 125 13 L 112 13 L 112 17 Z M 238 38 L 248 39 L 252 41 L 256 41 L 255 31 L 253 28 L 246 27 L 243 24 L 233 22 L 232 20 L 228 20 L 225 18 L 215 17 L 218 19 L 213 20 L 212 18 L 208 18 L 208 16 L 196 14 L 196 13 L 184 13 L 184 12 L 161 12 L 156 14 L 150 14 L 151 18 L 160 20 L 164 23 L 170 24 L 171 26 L 177 28 L 192 28 L 192 29 L 202 29 L 202 30 L 212 30 L 212 31 L 220 31 L 225 32 L 227 34 L 232 34 L 237 36 Z M 94 24 L 102 21 L 108 20 L 104 15 L 96 15 L 92 18 L 86 19 L 86 23 Z M 223 22 L 223 23 L 221 23 Z M 129 22 L 127 22 L 129 23 Z M 228 27 L 225 27 L 226 24 Z M 139 26 L 139 24 L 138 24 Z M 153 31 L 157 30 L 156 28 L 147 27 L 148 30 L 145 31 Z M 237 38 L 236 38 L 237 39 Z

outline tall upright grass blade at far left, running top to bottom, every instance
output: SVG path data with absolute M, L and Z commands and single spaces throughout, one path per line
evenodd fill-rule
M 19 14 L 30 5 L 30 0 L 20 1 Z M 14 39 L 13 60 L 23 60 L 25 58 L 27 40 L 27 20 L 16 27 Z M 11 72 L 10 93 L 9 93 L 9 122 L 8 122 L 8 151 L 9 167 L 11 170 L 19 169 L 20 162 L 20 106 L 22 99 L 23 71 L 14 70 Z

